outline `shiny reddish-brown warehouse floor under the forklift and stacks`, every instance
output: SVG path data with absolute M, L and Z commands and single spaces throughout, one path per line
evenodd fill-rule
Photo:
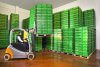
M 100 67 L 100 51 L 96 51 L 88 60 L 55 52 L 36 53 L 34 60 L 4 61 L 3 55 L 4 50 L 0 50 L 0 67 Z

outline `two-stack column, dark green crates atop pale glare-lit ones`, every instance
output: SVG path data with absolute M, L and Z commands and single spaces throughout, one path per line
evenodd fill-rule
M 54 51 L 62 51 L 62 30 L 61 30 L 61 12 L 53 14 L 53 29 L 54 29 L 54 38 L 53 38 L 53 47 Z

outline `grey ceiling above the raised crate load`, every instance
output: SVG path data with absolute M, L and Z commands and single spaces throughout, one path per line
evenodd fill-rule
M 11 4 L 14 6 L 19 6 L 21 8 L 28 9 L 28 10 L 32 6 L 38 3 L 51 3 L 53 5 L 53 8 L 56 8 L 73 1 L 76 0 L 0 0 L 0 2 Z

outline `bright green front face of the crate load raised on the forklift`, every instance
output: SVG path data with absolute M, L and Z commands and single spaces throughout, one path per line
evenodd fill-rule
M 37 34 L 52 34 L 52 5 L 36 5 L 36 29 Z

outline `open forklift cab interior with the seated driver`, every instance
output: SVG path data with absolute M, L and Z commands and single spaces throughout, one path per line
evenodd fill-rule
M 18 40 L 18 37 L 20 37 L 20 39 L 23 41 L 23 42 L 20 42 Z M 13 30 L 12 31 L 12 36 L 11 36 L 11 45 L 20 50 L 20 51 L 23 51 L 23 52 L 27 52 L 29 50 L 29 44 L 28 44 L 28 34 L 26 31 L 24 30 L 19 30 L 19 29 L 16 29 L 16 30 Z

